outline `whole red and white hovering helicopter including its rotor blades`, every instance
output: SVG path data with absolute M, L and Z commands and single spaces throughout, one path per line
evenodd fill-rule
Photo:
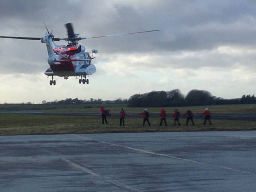
M 50 85 L 52 86 L 56 85 L 56 80 L 54 80 L 54 76 L 64 77 L 64 79 L 66 80 L 68 79 L 68 77 L 74 76 L 79 78 L 79 84 L 89 84 L 89 79 L 87 78 L 87 76 L 96 72 L 96 67 L 94 66 L 94 64 L 92 64 L 92 59 L 95 58 L 98 50 L 93 49 L 90 52 L 86 52 L 85 46 L 78 44 L 80 40 L 160 31 L 150 30 L 94 37 L 78 37 L 79 34 L 74 32 L 72 23 L 66 23 L 65 26 L 68 36 L 66 38 L 55 38 L 52 34 L 52 31 L 49 32 L 46 25 L 46 33 L 42 38 L 17 36 L 0 36 L 0 38 L 40 40 L 42 43 L 45 43 L 48 52 L 47 61 L 50 67 L 44 72 L 44 74 L 48 77 L 52 77 L 52 79 L 50 80 Z M 55 41 L 60 40 L 64 40 L 68 42 L 68 44 L 57 45 Z

